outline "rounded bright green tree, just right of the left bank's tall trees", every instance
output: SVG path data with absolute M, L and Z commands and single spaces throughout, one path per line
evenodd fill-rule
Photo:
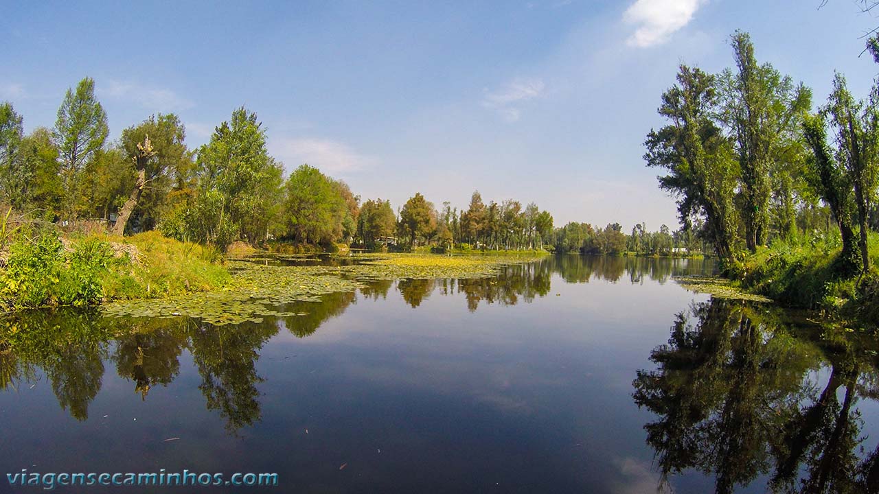
M 331 243 L 342 237 L 349 210 L 331 178 L 303 164 L 287 178 L 285 192 L 287 233 L 295 242 Z

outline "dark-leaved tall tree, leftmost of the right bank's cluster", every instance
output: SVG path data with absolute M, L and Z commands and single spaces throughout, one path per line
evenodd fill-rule
M 681 65 L 678 84 L 665 91 L 658 110 L 671 124 L 650 131 L 644 160 L 669 171 L 658 178 L 659 186 L 678 198 L 681 222 L 688 229 L 704 216 L 717 257 L 728 262 L 735 243 L 738 167 L 730 140 L 712 119 L 716 105 L 715 77 Z

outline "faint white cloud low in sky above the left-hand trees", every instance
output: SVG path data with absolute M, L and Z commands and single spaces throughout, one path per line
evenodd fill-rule
M 359 171 L 377 163 L 372 156 L 364 156 L 342 142 L 328 139 L 301 138 L 280 141 L 273 148 L 272 154 L 278 156 L 293 169 L 302 163 L 309 163 L 324 173 L 347 173 Z

